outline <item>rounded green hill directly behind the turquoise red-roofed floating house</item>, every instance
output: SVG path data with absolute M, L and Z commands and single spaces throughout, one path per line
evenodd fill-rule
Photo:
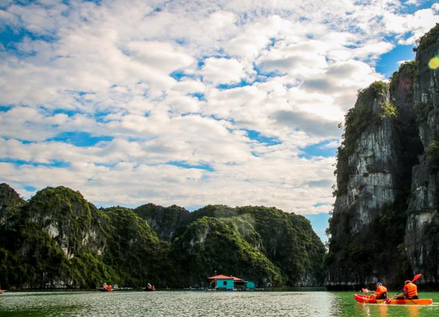
M 198 285 L 214 271 L 246 279 L 261 286 L 265 281 L 282 285 L 281 270 L 264 253 L 244 239 L 228 219 L 203 216 L 188 226 L 173 245 L 179 272 L 188 285 Z

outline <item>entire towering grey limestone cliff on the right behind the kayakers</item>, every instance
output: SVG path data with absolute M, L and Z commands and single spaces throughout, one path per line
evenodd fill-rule
M 326 285 L 399 287 L 422 272 L 438 284 L 439 25 L 390 84 L 359 92 L 338 149 Z M 439 143 L 438 143 L 439 145 Z

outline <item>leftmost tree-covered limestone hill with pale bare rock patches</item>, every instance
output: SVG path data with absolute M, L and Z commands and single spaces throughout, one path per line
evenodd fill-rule
M 48 187 L 20 202 L 11 223 L 0 226 L 3 287 L 95 288 L 111 281 L 142 286 L 145 277 L 165 281 L 157 263 L 168 248 L 131 210 L 100 210 L 77 191 Z

